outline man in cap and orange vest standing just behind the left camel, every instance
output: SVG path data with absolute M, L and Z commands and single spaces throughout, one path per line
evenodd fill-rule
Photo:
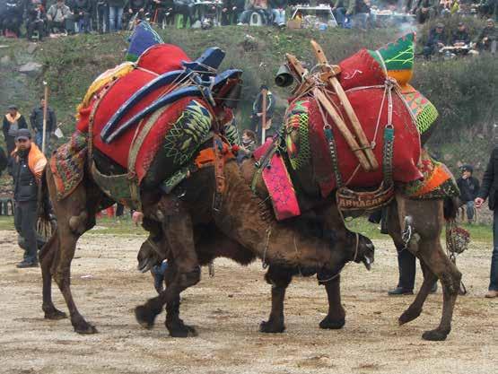
M 13 152 L 14 225 L 24 247 L 24 258 L 17 267 L 38 266 L 36 224 L 38 190 L 47 159 L 36 144 L 31 144 L 30 130 L 22 128 L 15 137 Z

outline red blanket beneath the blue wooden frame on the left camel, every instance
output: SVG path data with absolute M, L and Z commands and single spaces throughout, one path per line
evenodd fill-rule
M 146 117 L 140 125 L 132 126 L 127 131 L 114 140 L 111 144 L 105 144 L 100 139 L 100 131 L 108 123 L 110 117 L 124 104 L 135 91 L 138 91 L 146 83 L 149 83 L 159 74 L 164 74 L 173 70 L 182 68 L 182 61 L 190 61 L 188 56 L 180 48 L 170 44 L 158 44 L 147 49 L 137 62 L 137 67 L 130 73 L 118 78 L 114 83 L 110 83 L 109 89 L 101 90 L 96 98 L 92 100 L 89 106 L 80 110 L 80 119 L 76 128 L 87 133 L 89 130 L 89 119 L 92 113 L 93 105 L 98 102 L 98 96 L 103 95 L 99 102 L 99 107 L 94 113 L 92 141 L 95 149 L 104 153 L 112 161 L 117 162 L 124 168 L 128 168 L 128 157 L 131 144 L 134 137 L 144 124 L 147 122 Z M 161 87 L 147 94 L 143 100 L 140 100 L 133 109 L 119 122 L 123 124 L 127 119 L 135 116 L 136 113 L 157 100 L 162 94 L 169 90 L 170 86 Z M 139 181 L 141 181 L 149 169 L 153 158 L 164 142 L 164 135 L 170 130 L 175 121 L 182 115 L 186 107 L 195 101 L 199 106 L 207 108 L 203 100 L 198 98 L 187 97 L 170 104 L 167 110 L 155 119 L 154 126 L 145 136 L 144 143 L 140 147 L 135 161 L 135 172 Z M 157 114 L 157 112 L 156 112 Z M 138 127 L 138 129 L 137 129 Z

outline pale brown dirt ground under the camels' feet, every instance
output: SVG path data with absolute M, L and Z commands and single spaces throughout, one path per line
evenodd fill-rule
M 184 292 L 182 317 L 199 336 L 172 339 L 164 315 L 153 330 L 135 322 L 133 309 L 154 295 L 150 274 L 135 271 L 141 237 L 87 235 L 73 263 L 74 297 L 97 335 L 76 335 L 69 320 L 41 312 L 39 269 L 15 268 L 22 252 L 13 231 L 0 231 L 0 372 L 2 373 L 492 373 L 498 367 L 498 300 L 485 300 L 491 249 L 475 243 L 459 257 L 469 293 L 460 297 L 446 342 L 421 339 L 441 316 L 441 289 L 421 317 L 397 318 L 413 297 L 388 297 L 398 278 L 396 253 L 376 240 L 368 273 L 349 265 L 343 276 L 347 310 L 340 331 L 319 329 L 325 291 L 314 279 L 297 279 L 286 299 L 287 330 L 258 333 L 270 308 L 260 263 L 247 268 L 215 262 L 215 276 Z M 421 272 L 418 271 L 417 276 Z M 417 284 L 420 284 L 417 278 Z M 56 305 L 66 310 L 54 289 Z

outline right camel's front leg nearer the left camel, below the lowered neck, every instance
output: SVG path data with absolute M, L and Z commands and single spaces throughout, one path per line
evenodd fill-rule
M 259 331 L 262 333 L 283 333 L 284 298 L 287 286 L 293 280 L 292 273 L 277 265 L 270 265 L 265 275 L 266 283 L 272 286 L 272 309 L 267 321 L 262 321 Z

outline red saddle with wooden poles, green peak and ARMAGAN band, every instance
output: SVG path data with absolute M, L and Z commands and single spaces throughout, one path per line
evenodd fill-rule
M 318 65 L 310 71 L 286 55 L 275 83 L 298 84 L 279 138 L 255 152 L 277 217 L 300 213 L 286 168 L 299 172 L 312 165 L 320 194 L 336 190 L 344 211 L 388 204 L 395 187 L 415 198 L 458 193 L 450 171 L 421 148 L 420 137 L 438 112 L 409 84 L 414 41 L 410 33 L 384 48 L 362 49 L 338 65 L 329 65 L 312 41 Z M 279 157 L 283 152 L 287 162 Z M 282 178 L 270 177 L 274 172 L 264 168 L 269 164 Z

